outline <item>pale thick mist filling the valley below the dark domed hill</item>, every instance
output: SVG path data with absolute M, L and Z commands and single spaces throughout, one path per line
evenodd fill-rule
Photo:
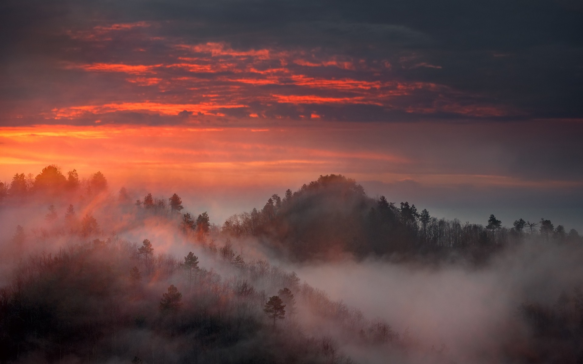
M 581 289 L 582 256 L 574 253 L 531 242 L 480 267 L 376 259 L 289 267 L 332 299 L 410 333 L 424 349 L 443 348 L 456 362 L 496 362 L 505 351 L 528 347 L 535 334 L 523 305 L 558 309 L 561 297 Z

